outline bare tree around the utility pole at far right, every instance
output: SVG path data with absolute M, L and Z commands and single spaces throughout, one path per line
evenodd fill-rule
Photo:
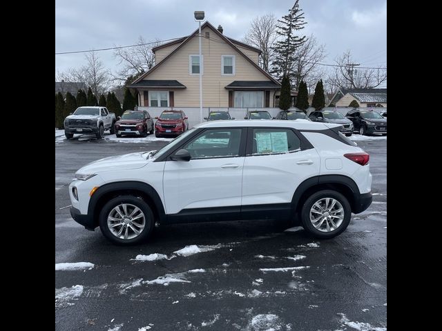
M 347 50 L 335 60 L 338 66 L 329 74 L 327 83 L 335 88 L 376 88 L 387 80 L 387 69 L 357 68 L 352 52 Z

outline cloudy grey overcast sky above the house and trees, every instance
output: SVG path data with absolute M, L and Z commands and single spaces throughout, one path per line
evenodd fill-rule
M 56 0 L 55 51 L 69 52 L 183 37 L 198 28 L 195 10 L 204 10 L 213 26 L 241 40 L 254 17 L 287 14 L 294 0 Z M 327 50 L 327 63 L 352 50 L 361 66 L 387 63 L 386 0 L 300 0 L 306 35 L 314 34 Z M 113 51 L 97 52 L 113 72 Z M 55 72 L 84 64 L 84 54 L 55 55 Z M 385 85 L 384 85 L 385 86 Z M 383 86 L 380 86 L 383 87 Z

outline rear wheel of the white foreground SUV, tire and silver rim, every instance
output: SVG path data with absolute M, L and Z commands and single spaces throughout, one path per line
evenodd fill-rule
M 316 238 L 328 239 L 342 233 L 350 223 L 352 208 L 339 192 L 322 190 L 311 194 L 300 212 L 303 228 Z

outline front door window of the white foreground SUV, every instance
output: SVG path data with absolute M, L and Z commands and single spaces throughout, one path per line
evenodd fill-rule
M 192 159 L 238 157 L 241 132 L 240 128 L 206 130 L 183 148 L 189 151 Z

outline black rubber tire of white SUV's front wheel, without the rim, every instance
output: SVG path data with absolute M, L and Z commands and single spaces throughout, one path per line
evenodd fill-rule
M 144 213 L 145 222 L 146 222 L 144 225 L 144 229 L 137 237 L 133 239 L 120 239 L 116 237 L 108 228 L 108 223 L 107 223 L 108 214 L 113 210 L 113 208 L 115 208 L 117 205 L 122 203 L 130 203 L 131 205 L 135 205 L 136 207 L 140 208 Z M 154 225 L 155 225 L 155 219 L 153 217 L 153 212 L 151 210 L 151 207 L 149 207 L 146 201 L 134 197 L 133 195 L 121 195 L 119 197 L 111 199 L 104 205 L 104 207 L 99 213 L 99 228 L 100 230 L 102 230 L 102 234 L 104 235 L 104 237 L 106 237 L 116 245 L 136 245 L 138 243 L 146 241 L 146 239 L 151 234 Z

